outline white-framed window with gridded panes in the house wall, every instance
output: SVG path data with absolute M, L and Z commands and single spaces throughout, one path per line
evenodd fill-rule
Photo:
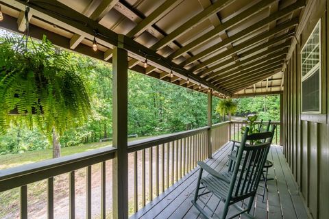
M 302 48 L 302 112 L 321 113 L 320 21 Z

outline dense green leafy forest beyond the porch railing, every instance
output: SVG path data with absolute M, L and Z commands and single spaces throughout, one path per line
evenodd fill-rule
M 111 139 L 112 136 L 112 66 L 90 57 L 71 53 L 70 60 L 79 66 L 90 95 L 91 114 L 82 125 L 66 129 L 60 135 L 61 147 L 81 146 Z M 195 129 L 207 124 L 207 95 L 175 86 L 147 75 L 129 71 L 128 135 L 157 136 Z M 213 100 L 213 123 L 223 120 L 216 111 L 219 99 Z M 257 113 L 264 120 L 279 120 L 278 96 L 234 99 L 236 116 Z M 10 123 L 0 135 L 0 155 L 51 149 L 49 135 L 40 127 Z

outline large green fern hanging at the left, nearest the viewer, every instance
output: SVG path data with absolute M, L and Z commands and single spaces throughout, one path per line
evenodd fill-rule
M 0 132 L 13 120 L 60 134 L 82 125 L 91 110 L 79 65 L 45 37 L 23 41 L 8 37 L 0 42 Z

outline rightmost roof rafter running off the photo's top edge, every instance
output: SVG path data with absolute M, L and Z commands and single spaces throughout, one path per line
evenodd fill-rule
M 221 25 L 218 25 L 211 31 L 208 31 L 206 34 L 199 36 L 199 38 L 193 40 L 192 42 L 186 44 L 184 47 L 178 49 L 173 54 L 169 55 L 169 59 L 173 60 L 176 57 L 179 57 L 183 53 L 186 53 L 187 51 L 197 47 L 199 44 L 202 44 L 203 42 L 206 42 L 213 36 L 216 36 L 217 34 L 221 33 L 222 31 L 225 31 L 234 25 L 237 25 L 241 23 L 242 21 L 245 21 L 245 19 L 249 18 L 250 16 L 254 15 L 255 13 L 258 13 L 263 8 L 267 7 L 270 3 L 276 0 L 265 0 L 260 1 L 259 3 L 256 3 L 255 5 L 252 5 L 252 7 L 248 8 L 247 10 L 241 12 L 240 14 L 234 16 L 230 20 L 226 21 L 225 23 L 222 23 Z

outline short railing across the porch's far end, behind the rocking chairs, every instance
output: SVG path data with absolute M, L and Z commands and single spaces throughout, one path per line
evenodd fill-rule
M 260 122 L 256 122 L 256 124 L 259 124 Z M 267 122 L 263 122 L 264 126 L 267 126 Z M 231 140 L 237 140 L 241 141 L 242 135 L 241 135 L 241 128 L 245 127 L 247 123 L 244 121 L 235 121 L 233 120 L 231 122 Z M 280 144 L 280 122 L 278 121 L 271 121 L 271 125 L 276 125 L 276 132 L 273 136 L 273 144 Z

